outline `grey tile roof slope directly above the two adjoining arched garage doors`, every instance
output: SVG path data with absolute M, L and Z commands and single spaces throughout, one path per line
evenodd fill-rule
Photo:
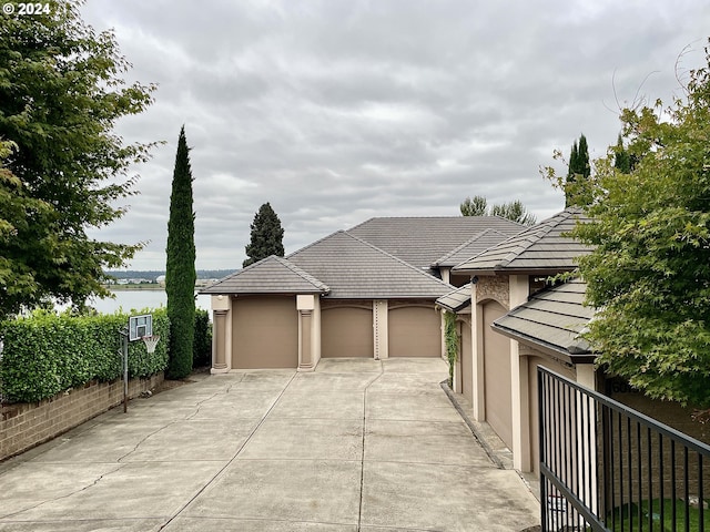
M 436 298 L 453 288 L 344 231 L 286 258 L 326 283 L 328 298 Z

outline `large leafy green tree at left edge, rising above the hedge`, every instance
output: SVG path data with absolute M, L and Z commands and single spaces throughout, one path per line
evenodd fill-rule
M 6 145 L 2 180 L 12 228 L 0 243 L 0 317 L 51 298 L 83 307 L 106 296 L 104 270 L 141 248 L 87 231 L 121 217 L 120 201 L 135 194 L 126 174 L 151 144 L 126 145 L 112 129 L 142 112 L 154 86 L 122 82 L 129 64 L 113 34 L 85 25 L 77 2 L 48 6 L 0 17 L 0 140 L 16 146 L 9 155 Z M 31 216 L 18 218 L 22 212 Z

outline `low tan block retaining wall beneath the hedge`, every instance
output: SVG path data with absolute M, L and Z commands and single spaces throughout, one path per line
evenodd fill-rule
M 151 390 L 163 381 L 163 374 L 132 379 L 129 397 Z M 92 381 L 40 402 L 0 407 L 0 461 L 51 440 L 121 405 L 123 381 Z

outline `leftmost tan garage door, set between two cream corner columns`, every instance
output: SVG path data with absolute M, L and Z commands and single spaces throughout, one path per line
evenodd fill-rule
M 295 297 L 237 297 L 232 308 L 232 367 L 298 367 Z

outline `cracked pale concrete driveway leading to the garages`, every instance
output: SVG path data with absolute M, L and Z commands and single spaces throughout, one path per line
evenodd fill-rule
M 438 359 L 324 359 L 136 399 L 0 464 L 0 531 L 520 531 L 538 504 Z

